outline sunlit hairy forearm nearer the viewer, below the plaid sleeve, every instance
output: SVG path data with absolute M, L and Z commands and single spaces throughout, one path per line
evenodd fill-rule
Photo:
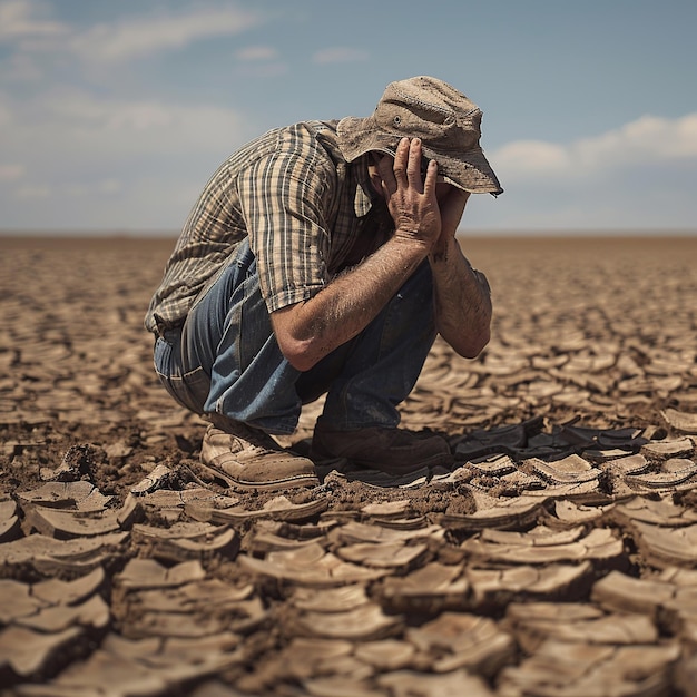
M 307 371 L 360 334 L 390 302 L 428 247 L 393 237 L 304 303 L 272 314 L 274 332 L 292 365 Z

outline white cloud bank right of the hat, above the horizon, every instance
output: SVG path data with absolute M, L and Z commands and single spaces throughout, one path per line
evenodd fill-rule
M 697 228 L 697 114 L 644 116 L 569 144 L 519 140 L 487 153 L 505 190 L 473 202 L 500 229 Z

